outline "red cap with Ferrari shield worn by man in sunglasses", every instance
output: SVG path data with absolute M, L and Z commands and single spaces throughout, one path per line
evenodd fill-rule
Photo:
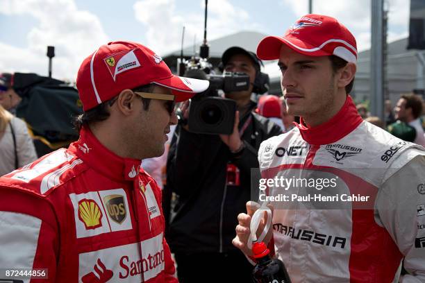
M 174 76 L 159 55 L 135 42 L 109 42 L 85 58 L 76 86 L 84 111 L 117 96 L 123 89 L 155 83 L 172 89 L 175 101 L 205 91 L 210 82 Z

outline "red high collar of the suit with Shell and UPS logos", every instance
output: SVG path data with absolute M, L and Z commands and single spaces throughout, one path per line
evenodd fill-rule
M 103 146 L 86 126 L 81 128 L 78 141 L 69 148 L 94 171 L 119 182 L 133 181 L 139 172 L 144 172 L 140 166 L 141 160 L 119 157 Z

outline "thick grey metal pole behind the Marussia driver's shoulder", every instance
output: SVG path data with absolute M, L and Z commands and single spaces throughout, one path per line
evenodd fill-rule
M 384 119 L 383 113 L 383 0 L 372 0 L 372 40 L 370 49 L 370 110 Z

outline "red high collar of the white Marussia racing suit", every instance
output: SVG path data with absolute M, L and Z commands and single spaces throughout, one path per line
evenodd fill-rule
M 342 137 L 345 137 L 350 132 L 352 132 L 357 126 L 362 123 L 363 119 L 357 112 L 356 105 L 353 103 L 353 99 L 351 96 L 347 96 L 344 105 L 340 111 L 335 114 L 329 121 L 320 124 L 319 126 L 315 126 L 312 128 L 308 128 L 301 117 L 301 122 L 294 123 L 297 128 L 299 128 L 299 132 L 301 133 L 301 137 L 308 144 L 332 144 Z

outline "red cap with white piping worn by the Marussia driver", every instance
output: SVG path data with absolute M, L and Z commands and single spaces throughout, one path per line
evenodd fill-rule
M 258 58 L 278 59 L 282 44 L 303 55 L 336 55 L 353 63 L 357 60 L 354 36 L 337 19 L 324 15 L 305 15 L 295 22 L 285 35 L 265 37 L 258 44 Z

